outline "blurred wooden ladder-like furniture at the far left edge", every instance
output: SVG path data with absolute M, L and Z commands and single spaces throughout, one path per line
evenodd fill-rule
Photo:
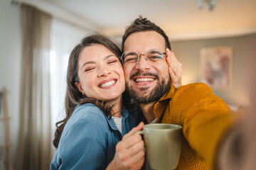
M 3 96 L 3 106 L 4 106 L 4 114 L 0 118 L 0 120 L 4 121 L 4 134 L 5 134 L 5 145 L 1 147 L 6 148 L 6 166 L 8 170 L 13 170 L 12 166 L 12 157 L 11 157 L 11 137 L 10 137 L 10 128 L 9 128 L 9 114 L 8 114 L 8 104 L 7 104 L 7 91 L 6 88 L 3 88 L 1 91 Z

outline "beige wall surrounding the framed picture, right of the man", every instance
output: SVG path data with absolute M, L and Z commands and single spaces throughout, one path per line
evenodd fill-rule
M 255 76 L 248 71 L 248 63 L 256 57 L 256 34 L 235 38 L 171 42 L 171 50 L 175 52 L 176 57 L 183 64 L 183 84 L 200 81 L 201 48 L 218 46 L 233 47 L 233 87 L 228 90 L 214 90 L 213 92 L 228 104 L 247 105 L 249 95 L 247 80 Z

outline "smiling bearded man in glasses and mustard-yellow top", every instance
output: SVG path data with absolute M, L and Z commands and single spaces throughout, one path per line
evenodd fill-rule
M 170 50 L 164 30 L 146 18 L 140 16 L 128 26 L 122 40 L 127 92 L 139 103 L 147 123 L 183 126 L 177 169 L 212 168 L 218 142 L 232 123 L 230 108 L 206 84 L 171 86 L 164 57 L 175 58 Z

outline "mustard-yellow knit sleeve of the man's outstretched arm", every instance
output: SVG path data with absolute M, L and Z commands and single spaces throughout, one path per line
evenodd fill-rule
M 215 96 L 206 84 L 187 91 L 187 111 L 183 113 L 183 135 L 198 155 L 213 169 L 219 142 L 235 122 L 235 115 L 223 99 Z

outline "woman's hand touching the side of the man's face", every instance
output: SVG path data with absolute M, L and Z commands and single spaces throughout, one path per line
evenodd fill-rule
M 181 86 L 181 76 L 182 76 L 182 64 L 176 59 L 174 52 L 171 52 L 166 48 L 166 62 L 169 65 L 169 74 L 171 77 L 171 84 L 175 89 Z

